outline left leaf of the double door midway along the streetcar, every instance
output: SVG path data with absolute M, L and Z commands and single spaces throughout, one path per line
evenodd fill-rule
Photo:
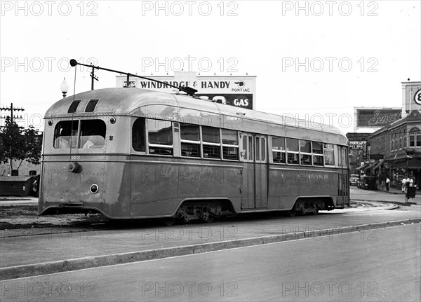
M 241 133 L 241 160 L 243 161 L 243 187 L 241 188 L 241 210 L 254 209 L 255 163 L 254 137 L 251 133 Z

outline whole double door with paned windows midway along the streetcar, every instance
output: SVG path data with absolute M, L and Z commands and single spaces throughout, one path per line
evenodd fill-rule
M 243 187 L 241 209 L 267 208 L 267 137 L 241 133 Z

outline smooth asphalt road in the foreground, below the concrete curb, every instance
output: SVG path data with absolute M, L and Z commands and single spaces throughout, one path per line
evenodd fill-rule
M 420 301 L 420 224 L 0 282 L 1 301 Z

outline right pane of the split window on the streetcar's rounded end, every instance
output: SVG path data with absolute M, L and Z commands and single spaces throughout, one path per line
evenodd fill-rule
M 82 120 L 79 137 L 79 148 L 98 149 L 105 145 L 107 126 L 102 120 Z

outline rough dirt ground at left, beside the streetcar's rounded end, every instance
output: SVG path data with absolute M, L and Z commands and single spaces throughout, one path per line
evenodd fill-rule
M 0 207 L 0 230 L 44 228 L 50 226 L 86 226 L 108 221 L 101 214 L 64 214 L 38 216 L 38 205 Z

